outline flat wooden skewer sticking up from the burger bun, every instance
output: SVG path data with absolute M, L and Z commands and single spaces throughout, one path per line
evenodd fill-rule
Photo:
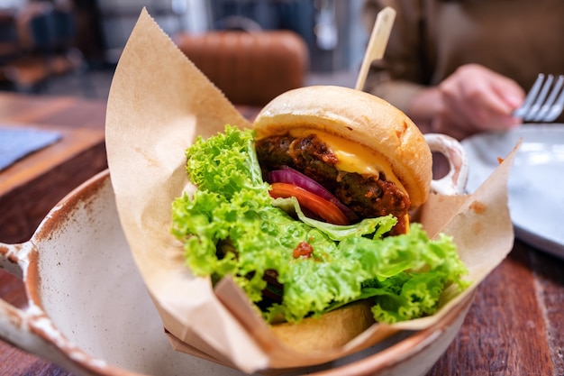
M 378 12 L 376 22 L 374 23 L 372 33 L 370 34 L 367 50 L 364 53 L 364 60 L 362 60 L 362 65 L 360 66 L 359 77 L 357 78 L 357 85 L 355 89 L 362 90 L 364 88 L 364 83 L 368 76 L 368 69 L 370 69 L 372 61 L 380 60 L 384 57 L 387 40 L 390 37 L 390 32 L 392 31 L 395 19 L 396 11 L 389 6 Z

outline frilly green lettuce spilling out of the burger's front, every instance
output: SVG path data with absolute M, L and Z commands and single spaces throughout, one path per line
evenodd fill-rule
M 227 125 L 186 151 L 186 172 L 198 189 L 172 205 L 172 234 L 185 243 L 196 275 L 231 275 L 268 322 L 298 322 L 362 298 L 375 318 L 396 322 L 432 315 L 443 289 L 468 286 L 467 270 L 448 236 L 431 240 L 421 225 L 383 237 L 396 218 L 330 225 L 303 215 L 296 199 L 274 200 L 261 177 L 253 133 Z M 300 243 L 310 257 L 294 257 Z M 276 271 L 281 302 L 263 307 L 265 272 Z

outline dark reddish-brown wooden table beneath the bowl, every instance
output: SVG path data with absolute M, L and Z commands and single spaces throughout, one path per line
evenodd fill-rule
M 0 94 L 0 124 L 59 129 L 68 138 L 64 150 L 40 151 L 0 172 L 0 242 L 27 241 L 61 197 L 105 169 L 104 121 L 102 102 Z M 0 298 L 26 302 L 22 282 L 2 270 Z M 564 261 L 517 240 L 478 287 L 459 335 L 428 376 L 564 375 L 562 334 Z M 0 341 L 0 375 L 70 373 Z

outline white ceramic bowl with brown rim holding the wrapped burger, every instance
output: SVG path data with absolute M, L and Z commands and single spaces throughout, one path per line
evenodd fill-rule
M 0 243 L 0 267 L 23 279 L 29 305 L 0 299 L 0 337 L 77 375 L 237 375 L 172 350 L 132 260 L 106 170 L 65 197 L 32 239 Z M 437 326 L 305 371 L 423 375 L 453 340 L 471 297 Z

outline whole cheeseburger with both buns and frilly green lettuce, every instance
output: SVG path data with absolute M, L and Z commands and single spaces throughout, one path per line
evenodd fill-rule
M 187 266 L 212 284 L 232 277 L 298 351 L 432 315 L 445 289 L 468 286 L 452 239 L 410 223 L 429 195 L 431 152 L 377 96 L 288 91 L 252 129 L 198 137 L 186 172 L 195 189 L 174 201 L 172 233 Z

